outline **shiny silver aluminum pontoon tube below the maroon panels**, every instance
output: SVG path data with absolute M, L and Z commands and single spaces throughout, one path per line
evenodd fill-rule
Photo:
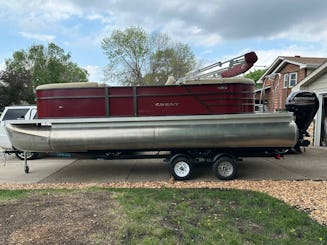
M 12 121 L 12 144 L 33 152 L 293 147 L 292 113 Z

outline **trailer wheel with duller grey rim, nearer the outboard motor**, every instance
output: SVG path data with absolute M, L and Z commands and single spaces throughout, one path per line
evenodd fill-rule
M 219 157 L 212 166 L 215 176 L 221 180 L 232 180 L 237 174 L 237 163 L 233 157 Z

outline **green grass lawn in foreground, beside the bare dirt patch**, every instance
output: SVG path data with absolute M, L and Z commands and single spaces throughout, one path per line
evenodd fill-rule
M 100 189 L 77 191 L 94 192 Z M 220 189 L 105 189 L 117 244 L 327 244 L 327 227 L 266 194 Z M 101 189 L 103 191 L 103 189 Z M 46 191 L 0 191 L 9 199 Z M 58 192 L 58 191 L 56 191 Z M 62 195 L 71 191 L 61 191 Z M 112 218 L 114 217 L 114 218 Z M 105 236 L 95 234 L 101 244 Z

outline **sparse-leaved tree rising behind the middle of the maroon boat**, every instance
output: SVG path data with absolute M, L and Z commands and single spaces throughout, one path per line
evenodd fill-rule
M 195 66 L 188 45 L 166 34 L 147 34 L 141 27 L 116 30 L 102 41 L 108 57 L 106 78 L 125 85 L 164 84 L 170 75 L 182 77 Z

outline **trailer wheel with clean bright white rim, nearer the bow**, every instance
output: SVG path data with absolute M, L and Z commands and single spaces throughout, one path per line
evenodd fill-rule
M 193 174 L 192 161 L 186 156 L 173 158 L 169 163 L 169 169 L 175 180 L 188 180 Z

